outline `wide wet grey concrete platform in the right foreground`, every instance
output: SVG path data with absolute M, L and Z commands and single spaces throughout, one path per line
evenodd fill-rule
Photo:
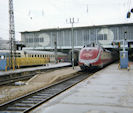
M 133 113 L 133 65 L 112 64 L 30 113 Z

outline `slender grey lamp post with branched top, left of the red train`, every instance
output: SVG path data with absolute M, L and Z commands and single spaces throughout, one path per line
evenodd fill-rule
M 67 20 L 66 20 L 67 22 Z M 71 45 L 72 45 L 72 67 L 74 69 L 74 33 L 73 33 L 73 24 L 74 23 L 78 23 L 79 20 L 77 20 L 77 22 L 74 20 L 74 18 L 70 18 L 69 23 L 71 24 Z

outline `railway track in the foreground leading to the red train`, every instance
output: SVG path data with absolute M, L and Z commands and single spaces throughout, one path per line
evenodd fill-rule
M 65 91 L 66 89 L 86 79 L 91 74 L 79 74 L 78 76 L 75 76 L 73 78 L 60 81 L 46 88 L 39 89 L 38 91 L 35 91 L 33 93 L 1 104 L 0 113 L 27 113 L 40 104 Z

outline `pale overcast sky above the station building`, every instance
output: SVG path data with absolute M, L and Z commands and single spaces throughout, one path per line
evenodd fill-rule
M 70 27 L 66 19 L 79 19 L 74 26 L 119 24 L 126 19 L 133 0 L 13 0 L 16 40 L 21 31 Z M 133 15 L 133 14 L 132 14 Z M 0 37 L 9 39 L 8 0 L 0 0 Z

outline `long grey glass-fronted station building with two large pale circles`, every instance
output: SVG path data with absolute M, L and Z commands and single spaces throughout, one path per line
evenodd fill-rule
M 74 27 L 74 48 L 80 49 L 91 42 L 99 42 L 112 48 L 112 42 L 121 42 L 125 37 L 133 41 L 133 23 Z M 28 49 L 50 50 L 72 48 L 71 28 L 51 28 L 21 32 L 21 41 Z

